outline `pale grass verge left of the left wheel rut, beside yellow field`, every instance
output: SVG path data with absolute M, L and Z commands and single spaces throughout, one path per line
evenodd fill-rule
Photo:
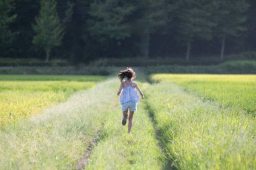
M 0 131 L 0 169 L 75 169 L 115 106 L 110 79 Z M 108 87 L 108 88 L 106 88 Z

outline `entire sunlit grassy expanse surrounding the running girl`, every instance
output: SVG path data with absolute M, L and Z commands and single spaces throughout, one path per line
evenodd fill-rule
M 19 92 L 17 98 L 26 106 L 23 93 L 44 93 L 49 103 L 31 109 L 40 108 L 40 114 L 2 126 L 0 169 L 77 169 L 81 162 L 85 169 L 255 169 L 256 119 L 249 107 L 254 107 L 255 77 L 219 76 L 190 75 L 189 81 L 185 75 L 152 75 L 158 83 L 150 84 L 137 73 L 141 82 L 135 81 L 146 98 L 137 106 L 131 134 L 121 125 L 117 78 L 1 77 L 0 94 Z M 202 90 L 208 86 L 217 97 Z M 225 103 L 238 96 L 235 89 L 245 97 Z M 53 93 L 60 95 L 51 101 Z M 32 101 L 44 99 L 40 94 Z

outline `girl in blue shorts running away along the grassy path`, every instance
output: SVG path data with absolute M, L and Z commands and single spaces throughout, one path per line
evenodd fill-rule
M 142 99 L 144 98 L 144 95 L 141 89 L 139 89 L 137 83 L 132 81 L 132 79 L 135 79 L 135 72 L 130 67 L 127 67 L 126 70 L 120 71 L 118 78 L 121 81 L 121 85 L 119 91 L 117 92 L 117 95 L 119 95 L 122 92 L 120 97 L 120 102 L 122 104 L 123 110 L 122 124 L 123 126 L 125 126 L 129 110 L 128 133 L 130 133 L 131 126 L 133 124 L 133 114 L 135 110 L 137 110 L 137 103 L 139 103 L 139 95 L 137 91 L 139 91 L 139 94 L 141 95 Z M 135 89 L 137 89 L 137 91 L 135 91 Z

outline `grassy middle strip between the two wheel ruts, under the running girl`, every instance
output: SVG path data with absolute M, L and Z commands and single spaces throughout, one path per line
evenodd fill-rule
M 137 108 L 131 134 L 127 134 L 127 125 L 121 124 L 121 105 L 116 97 L 115 108 L 106 118 L 86 169 L 162 169 L 163 155 L 146 103 L 142 100 Z

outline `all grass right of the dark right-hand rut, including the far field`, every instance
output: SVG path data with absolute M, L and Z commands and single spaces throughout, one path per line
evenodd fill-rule
M 243 75 L 151 77 L 152 81 L 160 83 L 148 90 L 148 105 L 150 112 L 154 113 L 158 130 L 162 133 L 161 140 L 167 157 L 177 169 L 255 169 L 256 125 L 253 110 L 249 110 L 251 112 L 247 114 L 237 109 L 255 107 L 252 103 L 255 98 L 251 97 L 251 93 L 255 92 L 255 86 L 252 87 L 254 78 Z M 203 97 L 171 81 L 185 88 L 198 90 Z M 235 88 L 237 91 L 234 91 Z M 239 90 L 243 93 L 239 93 Z M 216 94 L 213 95 L 214 93 Z M 233 100 L 230 99 L 234 96 L 232 93 L 244 96 Z M 228 100 L 230 107 L 205 99 L 207 95 L 214 101 Z M 239 102 L 245 104 L 241 105 Z

